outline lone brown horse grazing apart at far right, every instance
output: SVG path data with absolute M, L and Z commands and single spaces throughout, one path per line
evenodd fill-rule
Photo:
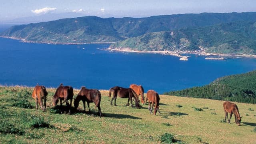
M 226 121 L 226 118 L 228 118 L 228 113 L 230 113 L 230 117 L 229 117 L 229 120 L 228 120 L 228 123 L 230 123 L 230 119 L 232 117 L 232 114 L 234 113 L 235 122 L 238 126 L 240 126 L 242 116 L 240 117 L 238 107 L 236 106 L 236 104 L 226 101 L 226 102 L 223 103 L 223 108 L 224 108 L 224 111 L 225 111 L 225 121 Z

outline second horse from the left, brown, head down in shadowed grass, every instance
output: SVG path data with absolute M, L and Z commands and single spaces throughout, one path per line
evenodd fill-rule
M 60 106 L 66 102 L 66 105 L 69 106 L 68 113 L 70 114 L 73 96 L 74 93 L 72 86 L 63 86 L 63 84 L 60 84 L 60 86 L 56 89 L 55 94 L 53 95 L 53 106 L 56 106 L 60 99 Z M 62 102 L 62 100 L 64 101 Z M 70 100 L 70 104 L 68 104 L 68 100 Z

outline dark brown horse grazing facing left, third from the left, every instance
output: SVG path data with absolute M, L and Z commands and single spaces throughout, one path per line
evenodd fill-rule
M 74 100 L 74 107 L 77 109 L 80 100 L 84 103 L 84 112 L 85 112 L 85 102 L 87 102 L 87 106 L 90 112 L 90 102 L 94 102 L 95 107 L 98 107 L 99 110 L 99 116 L 102 116 L 102 112 L 100 111 L 100 100 L 101 100 L 101 94 L 100 91 L 92 89 L 89 90 L 82 86 L 80 92 L 76 96 L 76 99 Z

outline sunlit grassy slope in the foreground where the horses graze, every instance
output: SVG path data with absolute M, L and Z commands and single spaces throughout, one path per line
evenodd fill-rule
M 82 102 L 77 112 L 60 114 L 52 106 L 54 88 L 47 88 L 47 112 L 36 110 L 32 90 L 0 87 L 0 143 L 152 144 L 161 143 L 160 137 L 165 133 L 185 144 L 256 143 L 255 104 L 236 103 L 243 116 L 241 126 L 237 126 L 234 115 L 231 124 L 222 122 L 223 101 L 160 95 L 161 114 L 154 116 L 148 105 L 140 109 L 124 106 L 128 99 L 118 97 L 118 106 L 111 106 L 108 91 L 100 90 L 103 113 L 100 118 L 93 103 L 91 114 L 82 111 Z M 74 90 L 74 97 L 78 91 Z

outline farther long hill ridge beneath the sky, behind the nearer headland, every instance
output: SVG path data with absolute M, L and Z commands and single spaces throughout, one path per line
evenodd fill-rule
M 188 26 L 210 26 L 234 21 L 255 21 L 256 12 L 201 13 L 151 16 L 148 18 L 99 18 L 85 16 L 12 26 L 0 36 L 44 43 L 117 42 L 149 32 Z

